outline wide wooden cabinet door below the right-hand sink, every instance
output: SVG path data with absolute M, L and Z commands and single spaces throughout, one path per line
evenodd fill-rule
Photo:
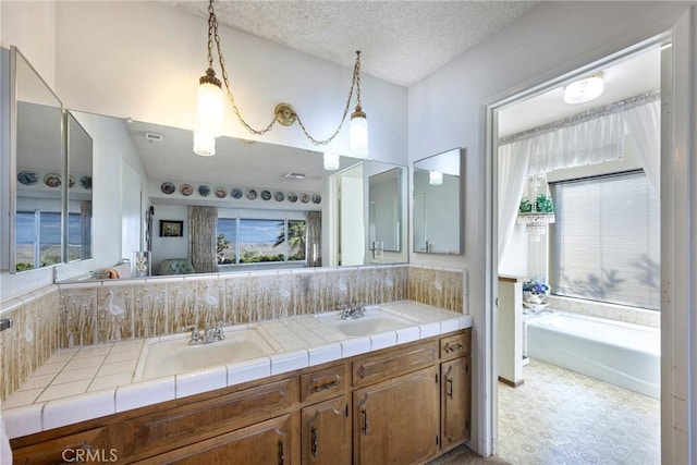
M 354 462 L 421 463 L 438 453 L 437 367 L 354 391 Z

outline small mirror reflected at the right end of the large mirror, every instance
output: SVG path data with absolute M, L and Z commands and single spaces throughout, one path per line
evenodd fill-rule
M 393 168 L 368 178 L 368 237 L 375 256 L 401 250 L 401 172 Z

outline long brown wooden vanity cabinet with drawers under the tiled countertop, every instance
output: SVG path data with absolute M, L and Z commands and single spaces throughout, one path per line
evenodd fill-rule
M 221 389 L 185 395 L 176 375 L 175 399 L 119 412 L 117 388 L 115 413 L 14 438 L 14 462 L 425 463 L 469 438 L 470 319 L 435 310 L 436 320 L 338 341 L 329 362 L 313 363 L 308 348 L 303 368 L 239 383 L 229 368 Z M 348 355 L 360 340 L 368 347 Z

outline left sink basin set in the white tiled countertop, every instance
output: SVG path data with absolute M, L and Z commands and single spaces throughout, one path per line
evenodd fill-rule
M 216 365 L 246 360 L 276 351 L 256 329 L 225 331 L 225 339 L 209 344 L 188 345 L 189 334 L 148 343 L 136 367 L 136 378 L 149 379 Z

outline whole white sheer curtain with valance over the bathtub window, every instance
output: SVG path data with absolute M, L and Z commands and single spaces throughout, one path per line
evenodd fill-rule
M 653 187 L 660 182 L 660 91 L 632 97 L 499 140 L 499 262 L 530 175 L 622 159 L 631 133 Z

